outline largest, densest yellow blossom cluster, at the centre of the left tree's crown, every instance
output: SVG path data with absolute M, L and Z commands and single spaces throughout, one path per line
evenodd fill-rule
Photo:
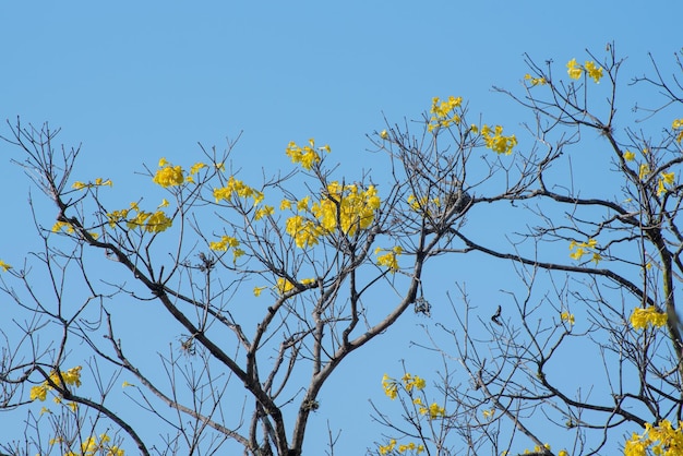
M 363 190 L 357 184 L 331 182 L 319 202 L 310 205 L 310 196 L 297 202 L 298 212 L 310 212 L 314 218 L 297 214 L 287 219 L 286 231 L 299 248 L 315 245 L 321 236 L 335 230 L 354 236 L 372 224 L 380 204 L 381 199 L 374 185 Z M 280 204 L 280 208 L 290 207 L 289 201 Z

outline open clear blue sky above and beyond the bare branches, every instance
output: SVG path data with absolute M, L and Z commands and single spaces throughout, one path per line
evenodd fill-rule
M 383 128 L 383 115 L 416 119 L 433 96 L 459 95 L 471 112 L 514 130 L 512 104 L 490 87 L 517 86 L 524 52 L 563 71 L 571 58 L 586 58 L 585 48 L 601 52 L 614 40 L 628 57 L 625 72 L 642 74 L 648 51 L 671 64 L 682 13 L 661 0 L 3 1 L 0 118 L 61 127 L 62 142 L 83 144 L 84 179 L 111 177 L 130 194 L 143 163 L 191 164 L 197 142 L 220 147 L 242 131 L 233 159 L 253 176 L 262 166 L 288 167 L 287 143 L 311 136 L 359 176 L 364 135 Z M 13 220 L 2 224 L 0 257 L 14 264 L 35 242 L 29 180 L 10 164 L 17 157 L 0 144 L 0 190 Z M 455 275 L 444 275 L 444 290 Z M 411 321 L 402 331 L 419 329 Z M 379 439 L 364 431 L 367 399 L 381 399 L 382 373 L 398 372 L 405 352 L 384 343 L 375 350 L 367 376 L 376 384 L 347 365 L 326 392 L 347 385 L 334 410 L 343 418 L 319 413 L 321 432 L 327 419 L 344 428 L 342 455 L 362 454 Z M 325 437 L 309 434 L 310 454 L 320 454 Z

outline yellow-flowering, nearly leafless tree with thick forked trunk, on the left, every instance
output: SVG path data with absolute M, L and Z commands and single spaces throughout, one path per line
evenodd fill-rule
M 466 113 L 453 97 L 434 100 L 432 111 L 430 129 Z M 334 180 L 329 146 L 311 139 L 287 146 L 298 170 L 260 187 L 229 169 L 233 143 L 223 154 L 202 147 L 204 160 L 189 168 L 161 158 L 146 175 L 166 193 L 152 189 L 122 204 L 110 179 L 72 177 L 80 148 L 57 148 L 57 133 L 17 121 L 5 137 L 57 208 L 56 221 L 36 214 L 44 250 L 31 254 L 49 286 L 36 286 L 44 281 L 33 263 L 2 263 L 2 289 L 28 315 L 20 334 L 5 333 L 2 407 L 59 404 L 29 411 L 31 437 L 4 447 L 15 454 L 118 454 L 132 444 L 145 455 L 212 453 L 227 441 L 244 454 L 301 454 L 335 369 L 406 310 L 428 312 L 423 265 L 471 204 L 464 155 L 440 156 L 432 134 L 421 144 L 406 136 L 390 156 L 382 195 L 368 176 Z M 486 135 L 462 133 L 463 152 L 484 145 Z M 121 269 L 120 280 L 108 278 Z M 378 292 L 393 298 L 369 305 Z M 139 305 L 124 305 L 130 300 Z M 144 307 L 166 313 L 144 327 L 157 347 L 127 341 Z M 163 351 L 172 341 L 184 356 Z M 75 355 L 83 346 L 85 359 Z M 158 350 L 166 379 L 146 349 Z M 161 443 L 147 443 L 113 407 L 119 379 L 131 379 L 125 396 L 166 427 Z M 236 403 L 238 412 L 228 409 Z

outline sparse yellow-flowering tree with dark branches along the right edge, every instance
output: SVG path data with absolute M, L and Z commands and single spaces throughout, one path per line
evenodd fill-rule
M 428 332 L 441 400 L 427 407 L 415 374 L 386 376 L 404 419 L 375 405 L 379 454 L 682 454 L 683 65 L 666 76 L 650 57 L 655 75 L 624 84 L 613 45 L 588 58 L 558 73 L 527 57 L 522 92 L 496 88 L 530 115 L 506 168 L 531 170 L 508 196 L 525 226 L 505 226 L 507 248 L 451 226 L 450 252 L 506 260 L 522 286 L 490 319 L 460 288 L 457 324 Z M 633 113 L 618 109 L 636 89 Z M 470 213 L 480 202 L 501 199 L 472 195 Z

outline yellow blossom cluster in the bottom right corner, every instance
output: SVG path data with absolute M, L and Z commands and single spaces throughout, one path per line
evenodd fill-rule
M 669 420 L 662 420 L 654 427 L 645 423 L 645 432 L 635 432 L 624 445 L 624 456 L 646 456 L 650 449 L 655 455 L 678 456 L 683 454 L 683 421 L 679 421 L 679 429 L 673 429 Z

